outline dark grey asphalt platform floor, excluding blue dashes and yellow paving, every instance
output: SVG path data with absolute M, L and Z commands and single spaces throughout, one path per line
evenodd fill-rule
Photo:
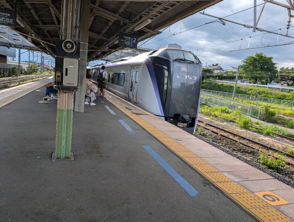
M 106 100 L 74 113 L 75 160 L 51 162 L 57 101 L 38 103 L 44 96 L 40 89 L 0 109 L 1 222 L 254 221 Z M 151 146 L 190 183 L 196 197 L 143 146 Z

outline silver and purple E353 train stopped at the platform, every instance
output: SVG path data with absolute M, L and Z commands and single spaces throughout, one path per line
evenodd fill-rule
M 100 66 L 89 67 L 96 79 Z M 202 63 L 192 52 L 163 48 L 106 64 L 106 89 L 162 119 L 195 132 Z

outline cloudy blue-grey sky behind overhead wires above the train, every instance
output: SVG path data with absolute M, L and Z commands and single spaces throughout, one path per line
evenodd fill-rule
M 280 3 L 287 4 L 285 0 L 278 0 Z M 238 2 L 238 3 L 236 3 Z M 264 1 L 257 0 L 257 5 L 263 4 Z M 288 5 L 288 4 L 287 4 Z M 224 0 L 214 6 L 205 10 L 205 13 L 211 14 L 217 17 L 225 17 L 230 14 L 242 11 L 253 7 L 253 0 Z M 262 5 L 257 7 L 257 18 L 262 9 Z M 293 12 L 294 14 L 294 12 Z M 226 17 L 226 19 L 233 20 L 242 24 L 251 24 L 253 25 L 253 9 L 248 9 L 246 11 L 240 12 L 238 14 Z M 272 56 L 273 61 L 278 63 L 278 68 L 280 67 L 292 67 L 294 66 L 294 57 L 293 57 L 293 48 L 294 45 L 285 45 L 279 47 L 267 47 L 260 49 L 251 49 L 243 50 L 236 52 L 228 52 L 230 50 L 239 50 L 240 43 L 241 49 L 247 49 L 248 41 L 250 37 L 249 48 L 260 47 L 263 45 L 275 45 L 277 41 L 277 35 L 275 34 L 265 34 L 265 32 L 253 32 L 253 29 L 248 29 L 237 24 L 226 22 L 225 26 L 219 22 L 214 22 L 206 24 L 204 26 L 183 32 L 187 29 L 205 24 L 215 20 L 213 17 L 208 17 L 202 14 L 194 14 L 186 19 L 183 19 L 181 22 L 177 22 L 171 25 L 170 28 L 163 31 L 163 33 L 154 37 L 153 39 L 143 44 L 141 47 L 157 49 L 159 46 L 177 43 L 182 46 L 184 50 L 191 50 L 193 53 L 197 54 L 200 58 L 203 66 L 211 65 L 213 63 L 219 63 L 223 69 L 230 69 L 231 66 L 237 67 L 241 64 L 243 60 L 248 55 L 254 55 L 255 52 L 263 52 L 267 56 Z M 294 20 L 294 19 L 292 19 Z M 277 6 L 271 3 L 266 3 L 261 15 L 258 27 L 262 27 L 269 31 L 274 31 L 280 28 L 284 28 L 280 31 L 282 34 L 286 34 L 287 29 L 285 29 L 288 21 L 288 11 L 287 9 Z M 294 22 L 292 22 L 294 25 Z M 171 36 L 173 33 L 180 34 L 174 35 L 164 40 L 165 37 Z M 278 31 L 276 31 L 278 32 Z M 258 35 L 254 37 L 255 35 Z M 294 27 L 289 29 L 288 35 L 294 36 Z M 247 38 L 247 39 L 245 39 Z M 155 42 L 160 40 L 158 42 Z M 223 44 L 226 42 L 231 42 L 239 40 L 236 42 L 219 45 L 215 47 L 210 47 L 207 49 L 202 49 L 205 47 Z M 289 37 L 280 36 L 278 39 L 278 44 L 284 44 L 285 42 L 294 41 L 294 39 Z M 294 42 L 293 42 L 294 43 Z M 141 43 L 142 44 L 142 43 Z M 141 45 L 139 44 L 139 45 Z M 197 52 L 198 49 L 198 52 Z M 218 53 L 226 52 L 226 53 Z M 212 54 L 214 53 L 214 54 Z M 216 54 L 218 53 L 218 54 Z M 211 54 L 211 55 L 207 55 Z

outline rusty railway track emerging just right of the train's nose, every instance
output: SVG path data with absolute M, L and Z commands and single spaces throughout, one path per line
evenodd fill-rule
M 248 142 L 250 142 L 250 143 L 253 143 L 253 144 L 257 145 L 257 146 L 263 147 L 263 148 L 266 149 L 266 150 L 270 150 L 270 151 L 277 152 L 277 153 L 279 153 L 279 154 L 283 154 L 283 155 L 285 155 L 286 157 L 289 157 L 289 158 L 293 159 L 293 162 L 288 162 L 287 160 L 284 160 L 284 159 L 282 159 L 282 160 L 285 161 L 285 162 L 287 162 L 288 165 L 291 165 L 291 166 L 294 165 L 294 155 L 288 154 L 288 153 L 286 153 L 286 152 L 284 152 L 284 151 L 282 151 L 282 150 L 276 149 L 276 148 L 274 148 L 274 147 L 270 147 L 270 146 L 268 146 L 268 145 L 266 145 L 266 144 L 263 144 L 263 143 L 257 142 L 257 141 L 255 141 L 255 140 L 249 139 L 249 138 L 247 138 L 247 137 L 243 137 L 243 136 L 241 136 L 241 135 L 239 135 L 239 134 L 233 133 L 233 132 L 228 131 L 228 130 L 226 130 L 226 129 L 222 129 L 222 128 L 218 127 L 218 126 L 214 126 L 214 125 L 209 124 L 209 123 L 205 123 L 205 124 L 204 124 L 204 121 L 198 120 L 198 122 L 201 123 L 201 124 L 198 124 L 198 125 L 201 126 L 201 127 L 203 127 L 204 129 L 209 130 L 209 131 L 211 131 L 212 133 L 217 134 L 217 135 L 219 135 L 219 136 L 222 136 L 222 137 L 225 137 L 225 138 L 227 138 L 227 139 L 233 140 L 234 142 L 237 142 L 237 143 L 239 143 L 239 144 L 242 144 L 242 145 L 244 145 L 244 146 L 246 146 L 246 147 L 249 147 L 249 148 L 251 148 L 251 149 L 255 149 L 255 150 L 258 150 L 258 151 L 262 151 L 262 150 L 260 150 L 260 149 L 258 149 L 258 148 L 256 148 L 256 147 L 253 147 L 253 146 L 251 146 L 251 145 L 249 145 L 249 144 L 247 144 L 247 143 L 244 143 L 244 142 L 242 142 L 242 141 L 240 141 L 240 140 L 237 140 L 237 139 L 234 139 L 234 138 L 229 137 L 229 136 L 227 136 L 227 135 L 224 135 L 224 134 L 220 133 L 219 131 L 216 131 L 216 130 L 214 130 L 214 129 L 211 129 L 211 128 L 207 127 L 207 126 L 213 127 L 213 128 L 215 128 L 215 129 L 221 130 L 221 131 L 223 131 L 223 132 L 225 132 L 225 133 L 228 133 L 228 134 L 230 134 L 230 135 L 233 135 L 234 137 L 237 137 L 237 138 L 243 139 L 243 140 L 248 141 Z M 278 157 L 276 157 L 276 156 L 274 156 L 274 155 L 272 155 L 272 154 L 269 154 L 269 155 L 271 155 L 271 156 L 273 156 L 273 157 L 275 157 L 275 158 L 278 158 Z M 278 159 L 281 159 L 281 158 L 278 158 Z

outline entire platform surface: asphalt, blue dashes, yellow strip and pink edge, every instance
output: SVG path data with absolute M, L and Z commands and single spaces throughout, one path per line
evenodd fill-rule
M 74 161 L 52 162 L 56 101 L 39 90 L 0 109 L 0 221 L 294 218 L 293 188 L 111 93 L 74 113 Z

